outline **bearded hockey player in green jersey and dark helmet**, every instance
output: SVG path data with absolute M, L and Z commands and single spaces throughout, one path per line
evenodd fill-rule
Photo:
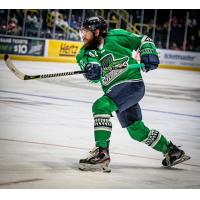
M 132 52 L 139 52 L 145 72 L 158 67 L 159 58 L 153 41 L 145 35 L 136 35 L 122 29 L 107 31 L 102 17 L 86 19 L 80 29 L 83 47 L 76 60 L 85 78 L 100 82 L 104 95 L 97 99 L 92 112 L 94 117 L 95 148 L 87 158 L 79 161 L 79 169 L 101 168 L 109 171 L 109 142 L 112 131 L 110 117 L 116 112 L 122 128 L 131 138 L 143 142 L 164 154 L 162 164 L 172 166 L 187 157 L 183 150 L 167 140 L 157 130 L 150 130 L 142 121 L 139 101 L 145 93 L 140 68 L 129 68 L 137 64 Z

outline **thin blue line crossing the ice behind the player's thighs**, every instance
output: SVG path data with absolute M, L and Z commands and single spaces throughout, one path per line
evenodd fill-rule
M 10 93 L 10 94 L 20 94 L 25 96 L 34 96 L 34 97 L 42 97 L 42 98 L 48 98 L 48 99 L 56 99 L 56 100 L 64 100 L 64 101 L 73 101 L 73 102 L 79 102 L 79 103 L 88 103 L 92 104 L 91 101 L 83 101 L 83 100 L 77 100 L 77 99 L 69 99 L 69 98 L 62 98 L 62 97 L 51 97 L 51 96 L 44 96 L 44 95 L 36 95 L 36 94 L 28 94 L 23 92 L 13 92 L 13 91 L 6 91 L 6 90 L 0 90 L 2 93 Z M 160 111 L 160 110 L 153 110 L 153 109 L 142 109 L 144 111 L 149 112 L 157 112 L 157 113 L 164 113 L 164 114 L 171 114 L 171 115 L 181 115 L 186 117 L 196 117 L 200 118 L 200 115 L 191 115 L 191 114 L 184 114 L 184 113 L 175 113 L 175 112 L 167 112 L 167 111 Z

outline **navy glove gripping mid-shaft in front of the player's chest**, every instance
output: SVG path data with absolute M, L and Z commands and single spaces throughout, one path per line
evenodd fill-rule
M 85 66 L 85 77 L 91 81 L 99 81 L 101 78 L 102 69 L 97 63 L 88 63 Z

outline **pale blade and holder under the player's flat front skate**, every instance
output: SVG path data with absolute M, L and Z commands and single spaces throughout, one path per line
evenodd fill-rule
M 100 164 L 87 164 L 87 163 L 79 163 L 79 170 L 81 171 L 103 171 L 106 173 L 110 173 L 111 169 L 108 167 L 109 162 L 104 162 L 104 163 L 100 163 Z

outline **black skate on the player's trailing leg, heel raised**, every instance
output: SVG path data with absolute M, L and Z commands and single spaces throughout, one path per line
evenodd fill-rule
M 171 167 L 190 159 L 190 156 L 185 155 L 185 152 L 179 149 L 179 146 L 175 146 L 172 142 L 170 142 L 169 148 L 169 152 L 164 154 L 165 158 L 162 161 L 163 166 Z

